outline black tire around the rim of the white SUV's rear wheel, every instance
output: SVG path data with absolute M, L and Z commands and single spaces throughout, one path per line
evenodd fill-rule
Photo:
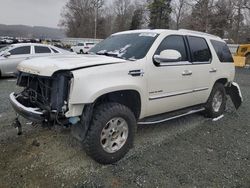
M 215 94 L 217 92 L 220 92 L 222 95 L 222 103 L 218 111 L 215 111 L 213 108 L 213 99 L 215 97 Z M 212 92 L 209 96 L 209 99 L 205 105 L 205 116 L 209 118 L 216 118 L 221 116 L 226 108 L 226 101 L 227 101 L 227 96 L 226 96 L 226 90 L 225 86 L 221 83 L 215 83 Z

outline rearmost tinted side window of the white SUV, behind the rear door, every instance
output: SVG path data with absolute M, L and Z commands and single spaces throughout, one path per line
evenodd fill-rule
M 226 43 L 216 40 L 211 40 L 211 43 L 215 49 L 218 58 L 220 59 L 220 62 L 228 62 L 228 63 L 234 62 L 232 54 Z

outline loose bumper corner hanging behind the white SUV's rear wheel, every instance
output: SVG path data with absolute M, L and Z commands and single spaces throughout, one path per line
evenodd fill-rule
M 239 85 L 236 82 L 230 83 L 226 87 L 226 92 L 230 96 L 235 108 L 238 109 L 243 102 L 243 97 Z

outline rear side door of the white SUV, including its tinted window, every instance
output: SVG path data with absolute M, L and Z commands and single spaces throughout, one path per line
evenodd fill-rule
M 210 47 L 205 38 L 187 36 L 187 41 L 193 64 L 193 97 L 196 104 L 202 104 L 207 101 L 213 87 L 217 74 L 216 64 L 212 61 Z

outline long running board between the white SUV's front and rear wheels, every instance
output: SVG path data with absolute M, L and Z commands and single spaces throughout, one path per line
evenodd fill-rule
M 168 115 L 167 118 L 166 118 L 165 115 L 161 115 L 161 117 L 163 117 L 164 119 L 158 119 L 158 118 L 153 118 L 153 117 L 151 117 L 151 118 L 144 118 L 143 120 L 145 120 L 145 121 L 139 121 L 137 124 L 138 125 L 149 125 L 149 124 L 163 123 L 163 122 L 170 121 L 170 120 L 173 120 L 173 119 L 177 119 L 177 118 L 180 118 L 180 117 L 183 117 L 183 116 L 187 116 L 187 115 L 190 115 L 190 114 L 195 114 L 195 113 L 198 113 L 198 112 L 202 112 L 204 110 L 205 110 L 205 108 L 202 107 L 202 108 L 199 108 L 199 109 L 193 109 L 193 110 L 187 111 L 185 113 L 178 114 L 178 115 L 175 115 L 175 116 L 170 116 L 170 117 L 169 117 L 169 115 L 171 113 L 168 113 L 167 114 Z

